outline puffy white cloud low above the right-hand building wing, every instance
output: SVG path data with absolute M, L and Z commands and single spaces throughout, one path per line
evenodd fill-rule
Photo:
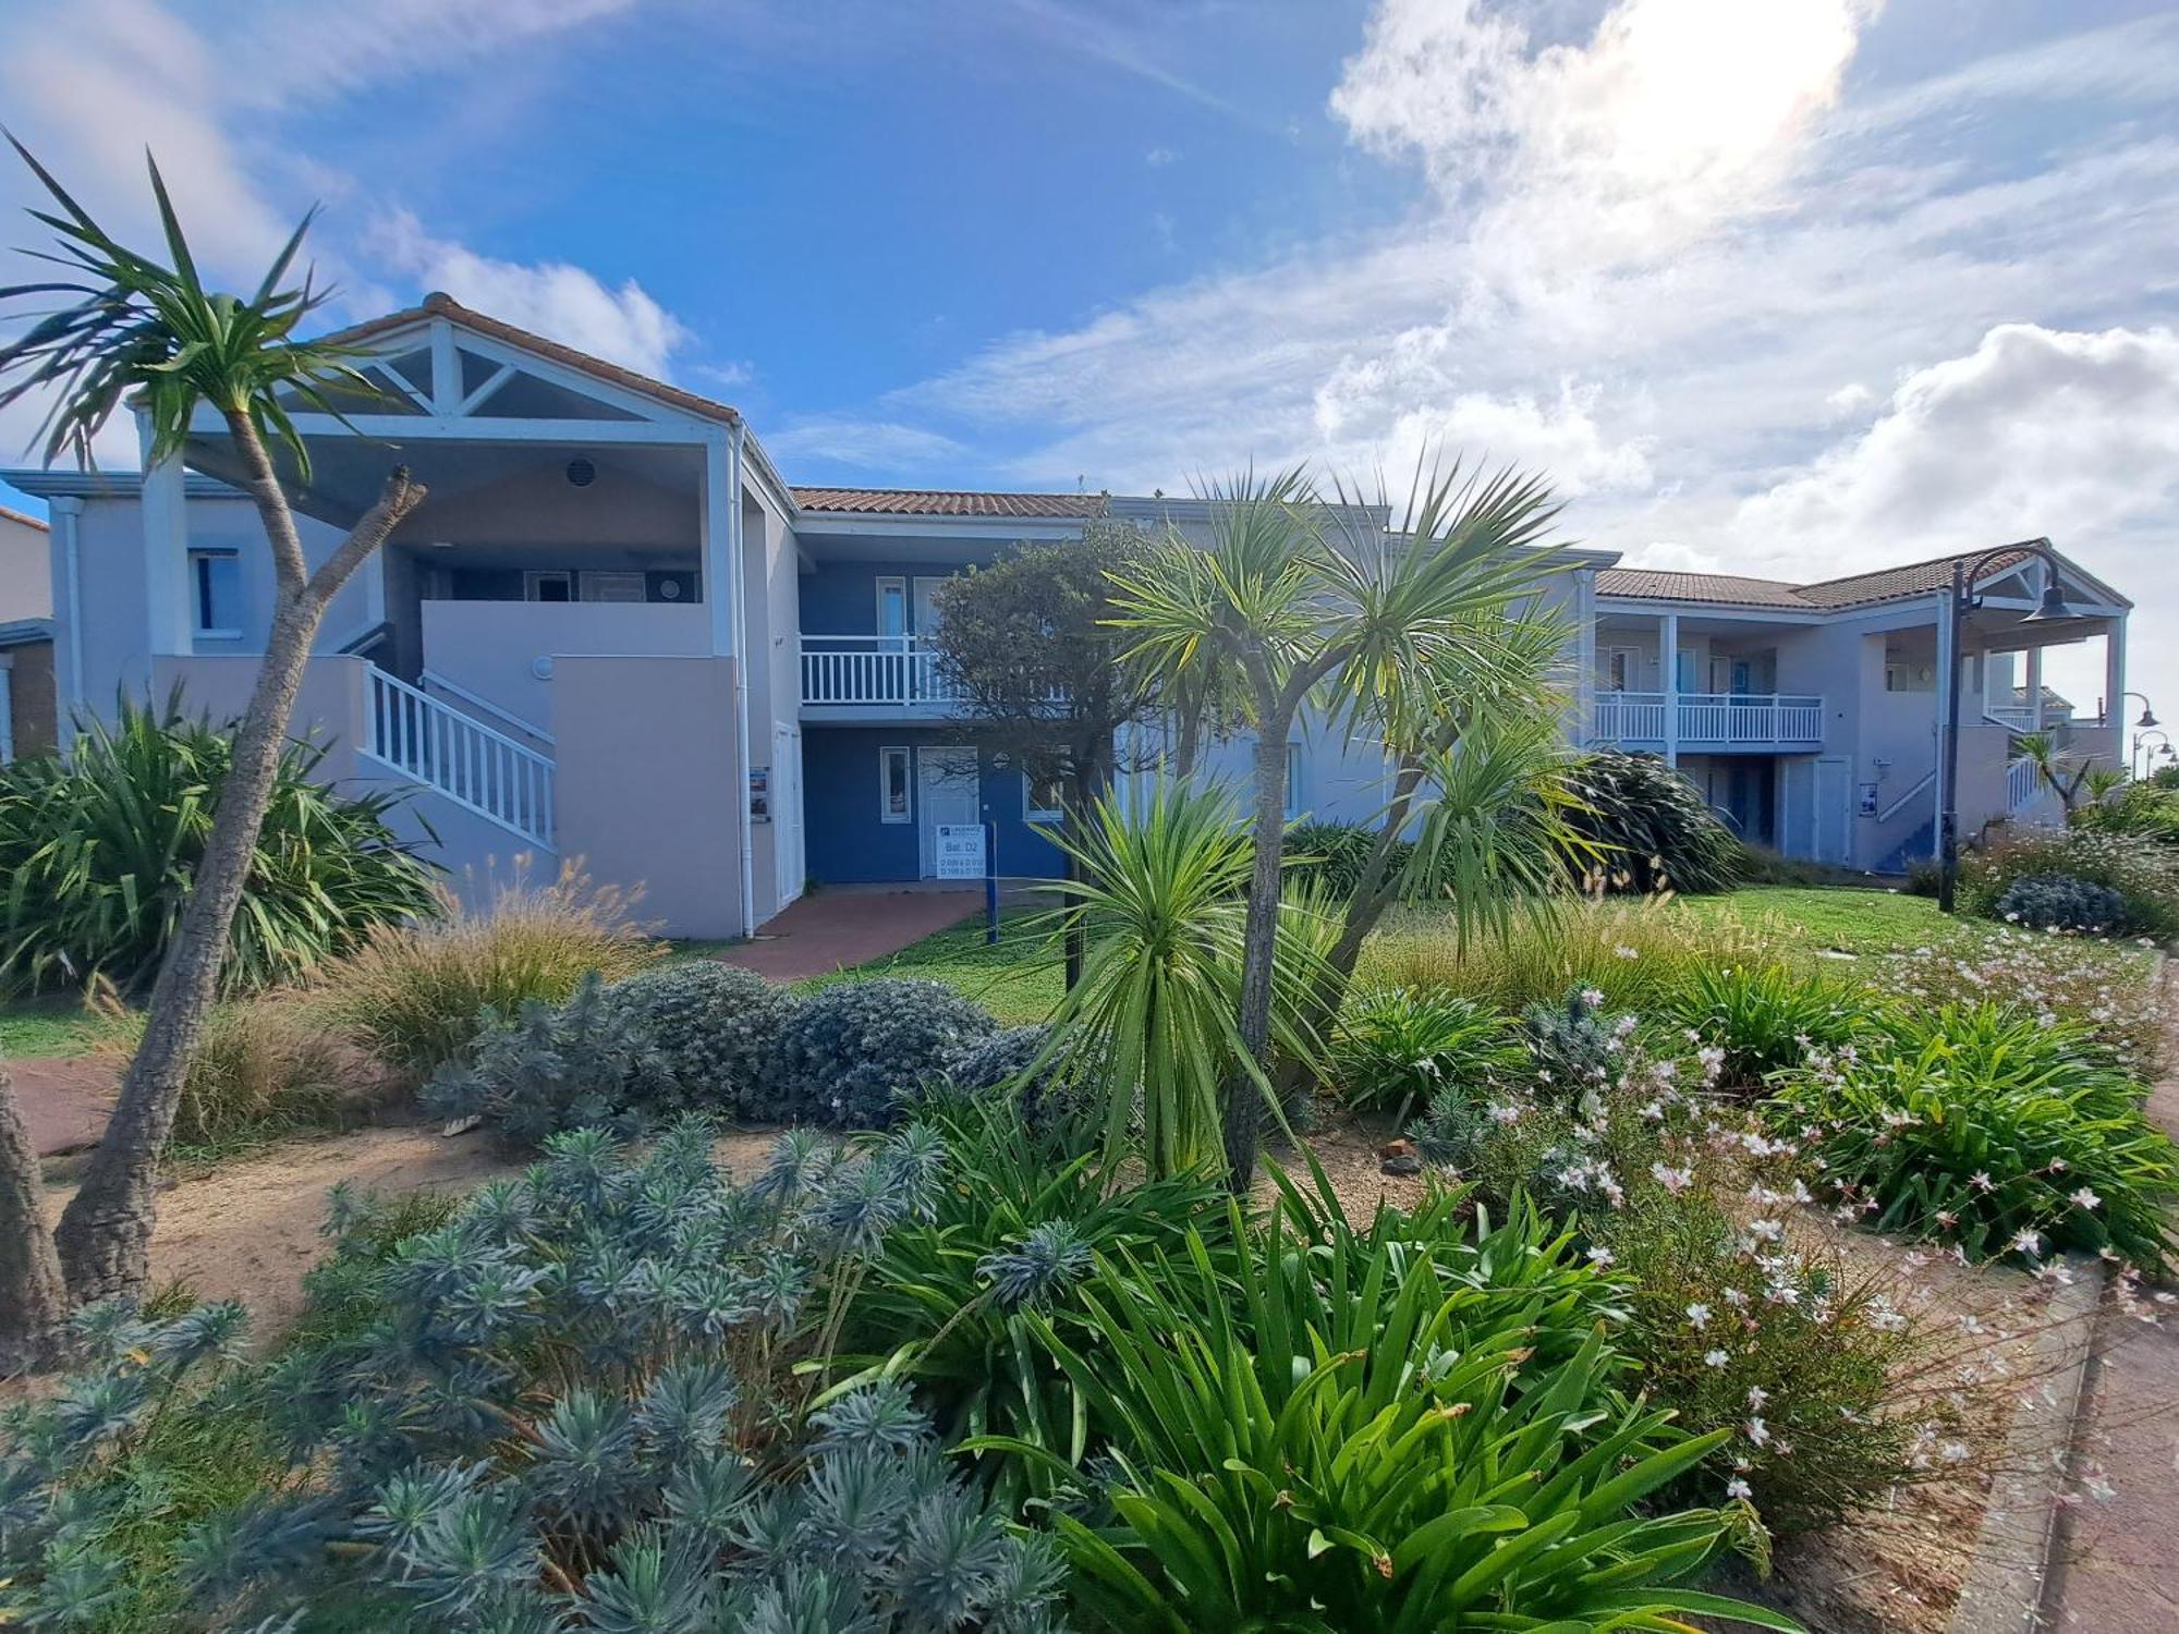
M 1734 532 L 1898 560 L 2037 534 L 2094 540 L 2175 503 L 2179 333 L 2013 322 L 1909 375 L 1867 431 L 1750 497 Z

